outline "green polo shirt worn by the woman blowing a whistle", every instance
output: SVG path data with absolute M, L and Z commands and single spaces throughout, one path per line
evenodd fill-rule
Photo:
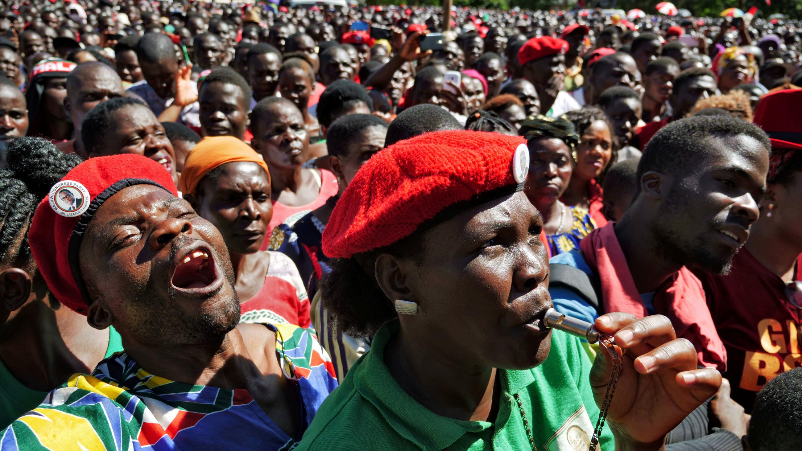
M 598 408 L 588 382 L 591 362 L 580 340 L 552 332 L 549 357 L 525 371 L 501 370 L 502 393 L 494 423 L 441 417 L 401 389 L 384 364 L 384 348 L 398 321 L 379 329 L 367 352 L 323 402 L 294 451 L 352 449 L 528 450 L 523 403 L 537 449 L 588 449 Z M 614 449 L 610 428 L 600 449 Z

